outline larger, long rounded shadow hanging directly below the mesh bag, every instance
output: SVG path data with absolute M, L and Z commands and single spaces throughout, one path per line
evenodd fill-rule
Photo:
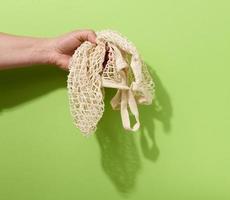
M 120 112 L 110 105 L 115 90 L 105 89 L 105 112 L 98 124 L 96 137 L 101 150 L 101 164 L 106 175 L 123 195 L 135 188 L 141 168 L 140 156 L 135 143 L 137 135 L 124 130 Z

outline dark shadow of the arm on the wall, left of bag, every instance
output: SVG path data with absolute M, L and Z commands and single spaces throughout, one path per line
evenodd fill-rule
M 66 87 L 67 73 L 53 66 L 0 71 L 0 112 Z

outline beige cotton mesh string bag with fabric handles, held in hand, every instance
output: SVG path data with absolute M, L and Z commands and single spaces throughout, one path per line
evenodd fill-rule
M 96 34 L 97 44 L 88 41 L 81 44 L 69 63 L 67 88 L 74 124 L 84 135 L 96 131 L 104 112 L 104 88 L 108 87 L 117 89 L 110 103 L 114 110 L 120 110 L 123 127 L 137 131 L 140 127 L 137 104 L 152 103 L 155 84 L 136 47 L 127 38 L 110 30 Z M 136 120 L 132 127 L 130 112 Z

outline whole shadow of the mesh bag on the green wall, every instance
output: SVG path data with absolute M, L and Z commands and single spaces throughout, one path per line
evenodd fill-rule
M 156 97 L 152 105 L 140 106 L 140 147 L 144 157 L 157 161 L 159 148 L 155 139 L 155 120 L 163 125 L 165 132 L 171 129 L 172 105 L 170 97 L 162 85 L 160 78 L 150 67 L 150 73 L 156 84 Z M 113 111 L 110 100 L 115 90 L 105 91 L 105 112 L 98 124 L 96 137 L 101 149 L 102 168 L 116 189 L 123 195 L 130 194 L 136 185 L 141 169 L 141 157 L 137 148 L 137 137 L 123 129 L 120 112 Z

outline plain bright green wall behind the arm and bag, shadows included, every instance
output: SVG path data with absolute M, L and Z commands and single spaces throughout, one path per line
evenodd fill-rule
M 115 29 L 157 86 L 142 128 L 123 130 L 109 100 L 96 135 L 79 134 L 67 73 L 0 72 L 1 200 L 230 199 L 230 3 L 224 0 L 7 0 L 0 29 L 53 37 Z

